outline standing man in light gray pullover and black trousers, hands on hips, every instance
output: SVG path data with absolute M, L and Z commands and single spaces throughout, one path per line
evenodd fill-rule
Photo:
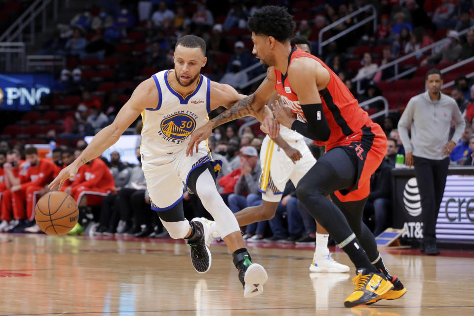
M 411 98 L 398 121 L 398 132 L 405 148 L 405 164 L 415 166 L 421 197 L 424 236 L 421 251 L 429 255 L 439 254 L 435 230 L 448 174 L 449 154 L 458 143 L 466 124 L 456 101 L 441 93 L 442 84 L 439 70 L 428 71 L 428 91 Z M 451 120 L 455 121 L 456 129 L 449 139 Z

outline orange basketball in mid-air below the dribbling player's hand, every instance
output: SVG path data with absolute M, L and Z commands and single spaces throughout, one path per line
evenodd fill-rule
M 49 192 L 35 206 L 36 223 L 48 235 L 67 234 L 74 228 L 78 218 L 78 204 L 65 192 Z

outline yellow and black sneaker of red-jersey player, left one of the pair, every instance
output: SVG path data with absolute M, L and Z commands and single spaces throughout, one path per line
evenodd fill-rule
M 385 275 L 368 272 L 367 269 L 357 270 L 357 276 L 352 279 L 356 288 L 344 300 L 345 307 L 354 307 L 370 302 L 394 288 L 394 285 L 385 278 Z

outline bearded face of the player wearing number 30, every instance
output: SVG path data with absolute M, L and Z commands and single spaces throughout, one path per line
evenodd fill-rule
M 174 74 L 178 83 L 187 87 L 193 84 L 207 62 L 207 57 L 200 48 L 189 48 L 178 45 L 174 51 Z

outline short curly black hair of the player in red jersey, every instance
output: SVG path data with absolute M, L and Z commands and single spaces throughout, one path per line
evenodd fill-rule
M 267 5 L 255 11 L 248 18 L 247 26 L 255 34 L 272 36 L 279 42 L 291 39 L 296 27 L 288 10 L 275 5 Z

